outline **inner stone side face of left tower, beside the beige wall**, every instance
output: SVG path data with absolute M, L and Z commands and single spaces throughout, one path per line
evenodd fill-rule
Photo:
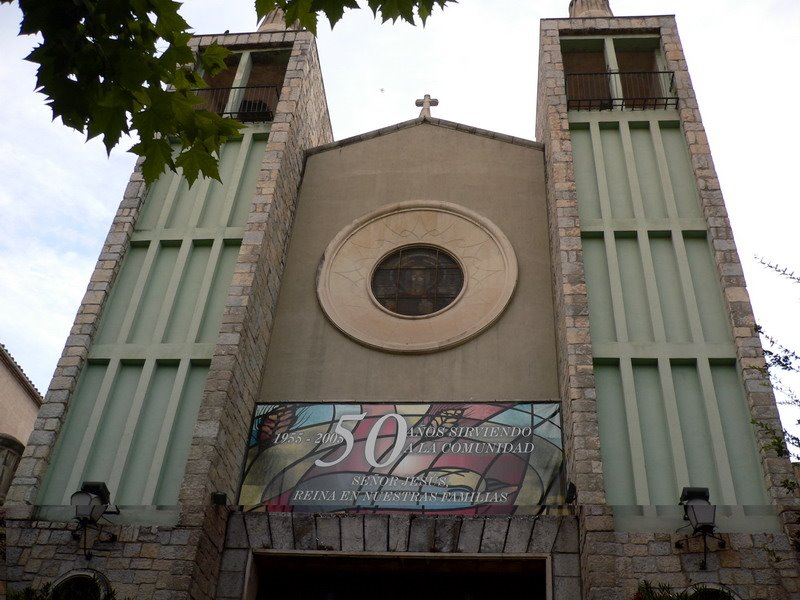
M 182 524 L 202 526 L 204 531 L 192 578 L 192 598 L 213 597 L 226 513 L 210 506 L 210 497 L 219 491 L 231 502 L 236 498 L 269 348 L 304 153 L 333 139 L 313 36 L 305 32 L 274 36 L 283 36 L 286 41 L 293 37 L 294 46 L 180 492 Z M 200 43 L 204 44 L 203 39 Z

